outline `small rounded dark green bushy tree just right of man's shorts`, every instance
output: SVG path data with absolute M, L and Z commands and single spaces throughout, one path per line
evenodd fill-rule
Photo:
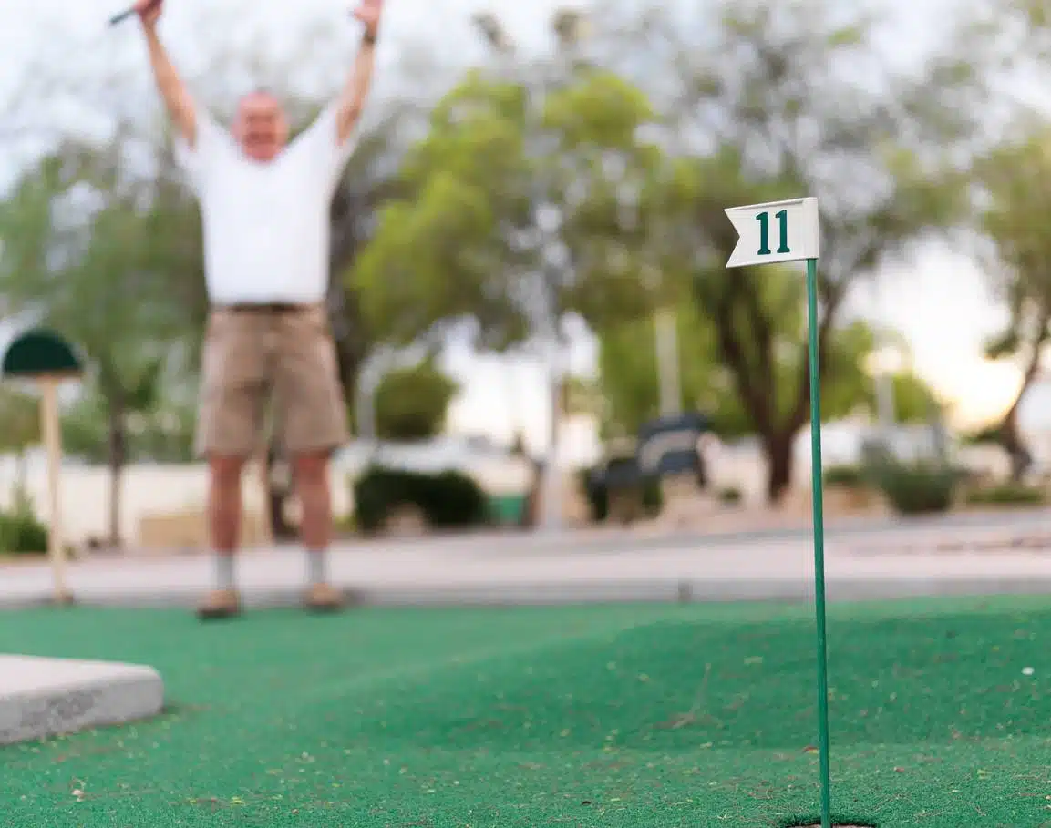
M 382 440 L 416 442 L 445 429 L 449 406 L 459 384 L 438 368 L 433 356 L 418 365 L 395 368 L 376 389 L 376 435 Z

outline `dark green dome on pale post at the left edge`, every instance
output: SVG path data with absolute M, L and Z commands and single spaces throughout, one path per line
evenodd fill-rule
M 25 331 L 7 346 L 0 363 L 0 377 L 34 382 L 40 389 L 40 433 L 47 453 L 48 529 L 47 557 L 55 577 L 55 601 L 73 602 L 66 585 L 65 542 L 62 533 L 62 433 L 59 428 L 59 386 L 83 374 L 74 347 L 51 331 Z

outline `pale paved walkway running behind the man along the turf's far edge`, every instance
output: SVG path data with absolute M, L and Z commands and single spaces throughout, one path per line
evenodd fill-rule
M 1051 533 L 1042 525 L 1034 517 L 832 532 L 828 597 L 1051 593 Z M 813 594 L 812 555 L 799 533 L 475 536 L 341 545 L 331 575 L 377 604 L 799 600 Z M 296 602 L 305 574 L 295 548 L 250 551 L 239 561 L 250 606 Z M 207 556 L 89 560 L 69 571 L 77 600 L 99 605 L 189 605 L 210 582 Z M 50 593 L 46 564 L 0 568 L 0 607 L 46 602 Z

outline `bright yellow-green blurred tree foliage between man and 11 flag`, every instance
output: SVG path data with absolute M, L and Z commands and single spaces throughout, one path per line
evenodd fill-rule
M 653 157 L 636 137 L 644 97 L 607 73 L 552 92 L 542 157 L 527 152 L 527 98 L 471 73 L 436 107 L 351 274 L 385 337 L 408 344 L 470 317 L 478 345 L 502 351 L 552 318 L 561 336 L 568 314 L 597 323 L 645 305 L 618 192 Z

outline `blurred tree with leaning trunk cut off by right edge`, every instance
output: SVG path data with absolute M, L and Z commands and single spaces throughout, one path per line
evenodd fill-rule
M 1051 132 L 1046 127 L 984 159 L 976 182 L 985 208 L 980 228 L 991 250 L 985 272 L 1008 308 L 1004 329 L 989 339 L 986 356 L 1019 363 L 1022 384 L 996 427 L 1017 480 L 1032 462 L 1018 430 L 1018 408 L 1040 370 L 1051 339 L 1051 239 L 1044 216 L 1051 210 Z

